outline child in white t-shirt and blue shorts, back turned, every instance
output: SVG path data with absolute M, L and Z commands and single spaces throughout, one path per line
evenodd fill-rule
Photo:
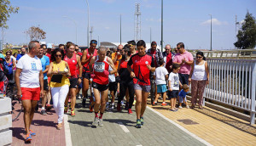
M 160 97 L 160 94 L 163 93 L 163 103 L 162 106 L 167 105 L 166 104 L 166 80 L 168 80 L 168 71 L 166 70 L 165 61 L 164 59 L 160 59 L 158 61 L 160 67 L 156 68 L 154 71 L 154 80 L 155 84 L 157 86 L 157 94 L 154 98 L 153 105 L 157 105 L 157 100 Z

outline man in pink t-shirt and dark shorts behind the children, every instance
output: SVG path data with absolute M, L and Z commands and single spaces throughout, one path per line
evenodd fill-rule
M 189 85 L 189 73 L 191 70 L 191 65 L 193 64 L 193 55 L 185 50 L 183 42 L 177 43 L 178 53 L 175 54 L 173 59 L 173 64 L 180 65 L 180 70 L 178 72 L 179 81 L 181 84 Z

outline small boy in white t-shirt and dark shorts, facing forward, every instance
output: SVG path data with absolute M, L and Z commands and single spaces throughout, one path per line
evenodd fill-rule
M 169 75 L 169 81 L 168 81 L 168 87 L 170 93 L 170 104 L 171 104 L 171 111 L 177 111 L 177 108 L 175 108 L 176 100 L 177 100 L 177 94 L 179 90 L 179 86 L 182 87 L 181 82 L 179 81 L 178 77 L 178 71 L 180 70 L 180 65 L 173 64 L 172 65 L 172 72 Z

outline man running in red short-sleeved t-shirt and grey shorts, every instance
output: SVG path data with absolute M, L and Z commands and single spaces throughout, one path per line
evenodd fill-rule
M 143 40 L 137 42 L 137 51 L 131 56 L 128 62 L 127 69 L 133 77 L 134 90 L 136 94 L 136 115 L 137 128 L 141 128 L 144 124 L 143 114 L 147 106 L 147 98 L 150 92 L 150 76 L 154 72 L 154 58 L 150 54 L 146 54 L 146 43 Z M 131 70 L 133 65 L 133 70 Z M 150 72 L 151 71 L 151 72 Z

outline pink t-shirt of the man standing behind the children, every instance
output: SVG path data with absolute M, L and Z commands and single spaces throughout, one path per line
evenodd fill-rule
M 175 54 L 174 59 L 173 59 L 172 62 L 173 62 L 173 64 L 181 63 L 182 59 L 185 59 L 187 62 L 194 60 L 192 53 L 189 53 L 188 51 L 185 51 L 183 54 L 181 54 L 181 53 Z M 183 65 L 180 66 L 180 70 L 179 70 L 178 73 L 188 74 L 189 75 L 190 70 L 191 70 L 191 66 L 190 65 L 183 64 Z

